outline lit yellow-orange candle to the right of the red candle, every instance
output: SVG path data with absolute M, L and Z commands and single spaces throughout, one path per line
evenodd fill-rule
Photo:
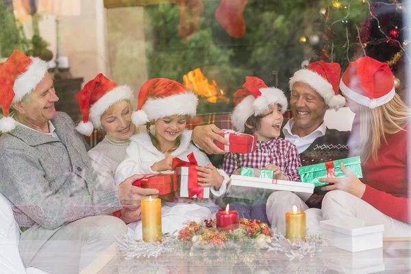
M 286 238 L 306 240 L 306 213 L 297 211 L 297 206 L 292 206 L 292 212 L 286 213 Z

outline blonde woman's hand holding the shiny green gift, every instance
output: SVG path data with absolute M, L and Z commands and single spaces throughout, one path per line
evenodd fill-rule
M 350 194 L 362 198 L 365 192 L 365 184 L 360 181 L 353 175 L 351 171 L 345 168 L 344 164 L 340 164 L 341 171 L 345 174 L 345 177 L 342 178 L 320 178 L 319 182 L 322 183 L 329 183 L 329 186 L 323 186 L 321 190 L 328 191 L 328 190 L 343 190 L 345 192 L 349 192 Z

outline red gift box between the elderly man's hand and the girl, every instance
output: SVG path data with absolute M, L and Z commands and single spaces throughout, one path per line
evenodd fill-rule
M 155 188 L 158 197 L 167 201 L 175 201 L 178 190 L 178 177 L 176 173 L 148 175 L 133 183 L 133 186 L 140 188 Z

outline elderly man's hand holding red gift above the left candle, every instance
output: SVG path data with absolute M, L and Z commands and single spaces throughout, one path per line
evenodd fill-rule
M 117 189 L 119 190 L 119 197 L 121 206 L 123 208 L 129 208 L 130 210 L 136 210 L 136 206 L 140 206 L 140 201 L 146 199 L 147 196 L 153 198 L 157 197 L 158 190 L 154 188 L 139 188 L 133 186 L 133 183 L 144 177 L 144 175 L 135 174 L 125 179 Z

